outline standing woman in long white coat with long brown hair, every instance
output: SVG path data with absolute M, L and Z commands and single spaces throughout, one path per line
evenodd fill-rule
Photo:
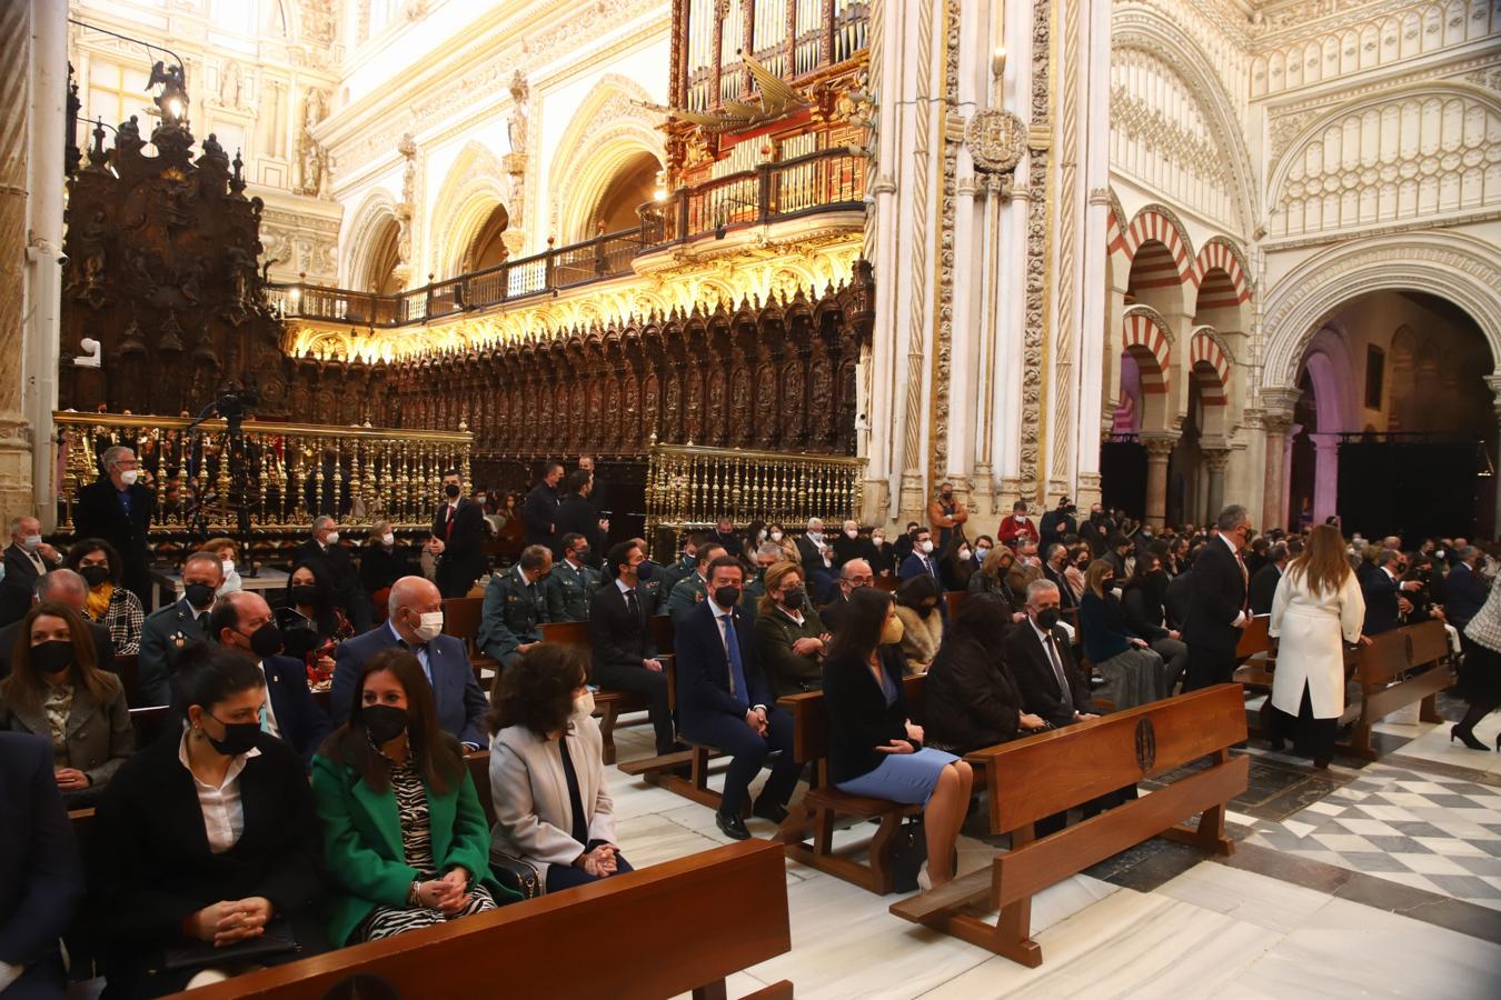
M 1340 640 L 1369 642 L 1360 628 L 1366 600 L 1345 559 L 1345 540 L 1333 525 L 1309 534 L 1271 600 L 1267 633 L 1280 639 L 1271 675 L 1271 747 L 1294 750 L 1327 768 L 1334 756 L 1339 717 L 1345 712 L 1345 648 Z

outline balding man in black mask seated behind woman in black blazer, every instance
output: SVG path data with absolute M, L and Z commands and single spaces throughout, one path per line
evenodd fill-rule
M 251 591 L 225 594 L 209 613 L 209 634 L 221 646 L 240 649 L 257 661 L 266 675 L 261 729 L 279 736 L 311 763 L 333 732 L 333 723 L 312 700 L 303 661 L 279 655 L 281 630 L 266 598 Z

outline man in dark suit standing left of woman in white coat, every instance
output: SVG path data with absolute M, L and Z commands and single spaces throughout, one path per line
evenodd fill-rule
M 1250 618 L 1246 600 L 1250 577 L 1240 558 L 1250 538 L 1250 514 L 1240 504 L 1231 504 L 1214 519 L 1214 525 L 1217 534 L 1193 561 L 1193 589 L 1183 622 L 1183 639 L 1189 645 L 1184 693 L 1231 681 L 1235 675 L 1235 646 Z

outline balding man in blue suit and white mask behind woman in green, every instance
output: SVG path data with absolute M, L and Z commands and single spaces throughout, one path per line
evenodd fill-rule
M 422 673 L 432 685 L 432 702 L 438 711 L 438 726 L 465 750 L 486 745 L 485 712 L 489 702 L 474 667 L 470 664 L 464 640 L 443 634 L 443 595 L 426 577 L 404 576 L 390 586 L 386 603 L 390 616 L 384 625 L 348 639 L 333 658 L 333 685 L 329 691 L 333 724 L 342 726 L 350 717 L 354 685 L 360 667 L 381 649 L 402 646 L 417 654 Z

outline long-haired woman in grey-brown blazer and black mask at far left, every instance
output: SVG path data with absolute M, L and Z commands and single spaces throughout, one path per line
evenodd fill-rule
M 42 601 L 21 619 L 11 676 L 0 681 L 0 730 L 51 742 L 57 790 L 71 810 L 93 805 L 135 753 L 125 687 L 98 667 L 84 619 L 68 604 Z

